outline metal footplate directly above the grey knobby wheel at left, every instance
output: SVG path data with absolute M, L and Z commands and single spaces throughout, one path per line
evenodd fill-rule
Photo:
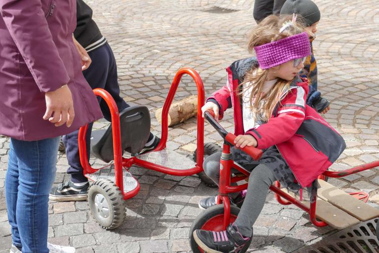
M 89 180 L 96 181 L 100 179 L 108 179 L 110 181 L 115 182 L 115 170 L 114 165 L 112 164 L 109 168 L 99 169 L 95 173 L 85 174 Z M 126 169 L 123 169 L 123 182 L 124 182 L 124 193 L 129 193 L 137 188 L 138 183 L 137 180 L 133 177 L 133 175 Z

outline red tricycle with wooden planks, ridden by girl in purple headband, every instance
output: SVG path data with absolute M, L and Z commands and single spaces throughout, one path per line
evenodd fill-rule
M 217 205 L 204 210 L 192 223 L 189 230 L 189 242 L 191 250 L 194 253 L 203 252 L 195 242 L 193 237 L 194 230 L 204 229 L 222 231 L 225 230 L 230 223 L 233 223 L 236 220 L 240 209 L 237 206 L 230 204 L 228 194 L 247 189 L 247 183 L 238 186 L 231 186 L 231 183 L 239 182 L 249 177 L 249 172 L 243 168 L 235 166 L 232 160 L 230 146 L 233 144 L 236 136 L 225 131 L 225 129 L 223 129 L 213 118 L 211 113 L 205 112 L 204 117 L 224 140 L 220 159 L 219 195 L 217 197 Z M 255 147 L 245 146 L 242 150 L 254 160 L 259 159 L 262 155 L 262 150 Z M 366 169 L 372 169 L 377 166 L 379 166 L 379 161 L 343 171 L 325 171 L 318 178 L 320 188 L 313 196 L 313 199 L 310 199 L 311 201 L 303 199 L 301 190 L 300 198 L 298 199 L 292 193 L 287 192 L 286 189 L 281 189 L 278 181 L 275 182 L 275 185 L 271 185 L 270 189 L 275 193 L 275 197 L 280 204 L 294 204 L 307 212 L 312 224 L 316 226 L 330 225 L 337 229 L 344 229 L 360 222 L 369 221 L 379 217 L 379 210 L 365 203 L 368 199 L 368 194 L 364 192 L 348 194 L 335 188 L 331 184 L 328 184 L 326 182 L 327 177 L 343 177 Z M 241 173 L 232 175 L 232 168 L 237 169 Z M 282 199 L 282 197 L 284 199 Z M 372 223 L 373 227 L 377 227 L 378 235 L 378 226 L 374 221 Z M 251 239 L 239 252 L 246 252 L 250 244 Z M 367 244 L 370 246 L 369 242 L 367 242 Z M 372 252 L 375 252 L 375 249 Z

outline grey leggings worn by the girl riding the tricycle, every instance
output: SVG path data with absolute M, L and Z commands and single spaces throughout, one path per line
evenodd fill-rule
M 204 172 L 217 185 L 220 178 L 220 157 L 221 152 L 212 154 L 203 164 Z M 232 173 L 234 172 L 238 171 L 232 169 Z M 269 188 L 274 181 L 276 179 L 272 170 L 265 164 L 259 164 L 251 171 L 246 197 L 234 222 L 243 236 L 251 236 L 253 225 L 263 209 Z

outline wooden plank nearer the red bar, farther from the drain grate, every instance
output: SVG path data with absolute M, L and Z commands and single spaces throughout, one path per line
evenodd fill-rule
M 369 204 L 352 197 L 350 194 L 319 179 L 321 188 L 317 190 L 317 196 L 330 204 L 344 210 L 360 221 L 368 221 L 379 217 L 379 210 Z

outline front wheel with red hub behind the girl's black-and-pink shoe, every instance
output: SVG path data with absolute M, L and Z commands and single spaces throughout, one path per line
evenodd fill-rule
M 236 219 L 238 214 L 240 213 L 240 208 L 237 206 L 230 206 L 230 223 L 233 223 Z M 224 205 L 215 205 L 210 208 L 205 209 L 202 211 L 196 219 L 192 222 L 192 226 L 189 229 L 189 245 L 191 247 L 191 250 L 193 253 L 202 253 L 203 250 L 197 246 L 197 243 L 195 242 L 193 238 L 193 231 L 196 229 L 202 229 L 204 225 L 207 225 L 212 228 L 212 231 L 221 231 L 222 230 L 222 221 L 224 217 Z M 214 225 L 216 223 L 216 225 Z M 250 240 L 245 244 L 244 248 L 239 253 L 244 253 L 248 250 L 251 240 L 253 238 L 253 234 L 250 236 Z

